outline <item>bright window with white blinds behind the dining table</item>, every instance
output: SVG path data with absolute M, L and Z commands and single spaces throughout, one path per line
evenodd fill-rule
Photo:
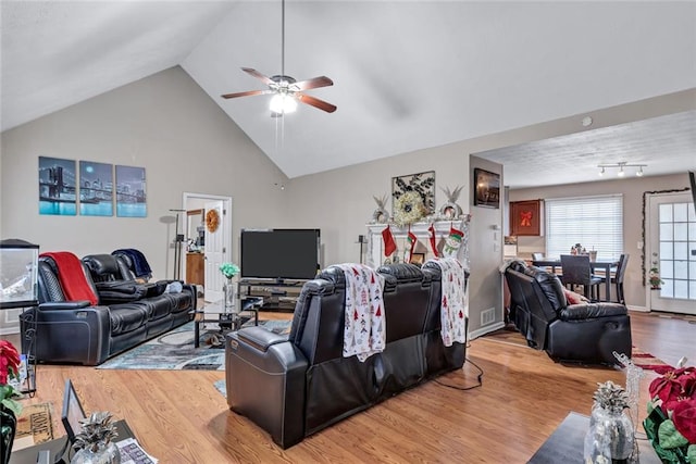
M 569 254 L 575 243 L 596 250 L 598 260 L 623 253 L 623 196 L 559 198 L 545 201 L 546 254 Z

